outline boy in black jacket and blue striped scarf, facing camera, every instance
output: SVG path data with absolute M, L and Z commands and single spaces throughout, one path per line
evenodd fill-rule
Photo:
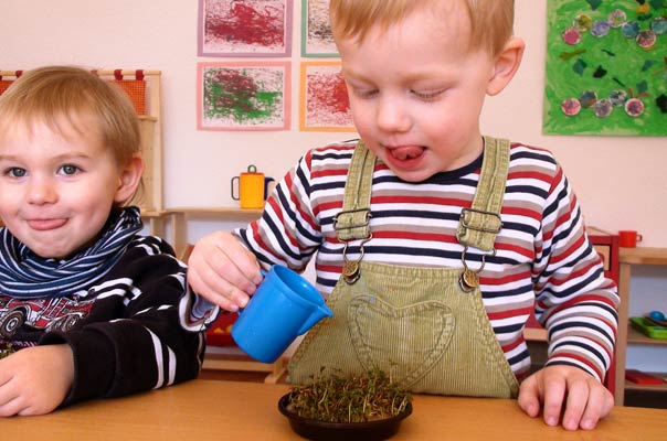
M 78 67 L 25 72 L 0 96 L 0 417 L 195 378 L 186 266 L 127 206 L 144 171 L 128 97 Z

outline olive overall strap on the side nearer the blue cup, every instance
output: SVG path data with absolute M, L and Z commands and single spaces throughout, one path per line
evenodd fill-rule
M 357 143 L 345 185 L 342 211 L 334 216 L 334 229 L 340 241 L 370 238 L 371 185 L 375 155 L 362 141 Z

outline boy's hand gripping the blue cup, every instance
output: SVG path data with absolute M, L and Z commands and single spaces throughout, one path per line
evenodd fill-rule
M 188 259 L 190 287 L 226 311 L 244 308 L 261 282 L 257 259 L 227 232 L 203 237 Z

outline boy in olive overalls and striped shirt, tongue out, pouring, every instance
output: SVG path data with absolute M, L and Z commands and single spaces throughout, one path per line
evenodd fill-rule
M 550 426 L 594 428 L 613 407 L 616 288 L 551 153 L 479 129 L 521 61 L 514 2 L 332 0 L 330 17 L 361 140 L 308 151 L 261 219 L 203 238 L 189 283 L 235 311 L 258 265 L 315 256 L 334 318 L 290 381 L 379 367 L 415 392 L 518 397 Z M 549 359 L 528 376 L 533 312 Z

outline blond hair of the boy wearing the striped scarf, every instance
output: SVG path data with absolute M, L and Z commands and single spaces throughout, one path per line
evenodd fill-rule
M 100 141 L 112 150 L 119 168 L 141 152 L 139 118 L 129 97 L 80 67 L 28 71 L 0 95 L 0 133 L 15 125 L 30 130 L 35 121 L 61 135 L 65 129 L 62 123 L 82 135 L 91 129 L 88 125 L 96 125 Z

